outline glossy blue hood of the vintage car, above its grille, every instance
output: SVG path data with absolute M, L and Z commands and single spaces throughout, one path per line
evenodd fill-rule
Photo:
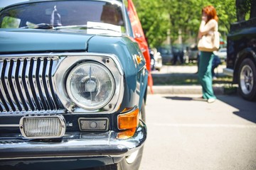
M 83 32 L 3 29 L 0 31 L 0 52 L 85 51 L 90 37 L 92 35 Z

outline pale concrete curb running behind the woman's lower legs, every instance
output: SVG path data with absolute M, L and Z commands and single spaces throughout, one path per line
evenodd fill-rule
M 202 87 L 193 86 L 153 86 L 154 94 L 202 94 Z M 213 91 L 216 95 L 224 94 L 224 88 L 220 85 L 213 85 Z M 148 94 L 151 94 L 148 87 Z

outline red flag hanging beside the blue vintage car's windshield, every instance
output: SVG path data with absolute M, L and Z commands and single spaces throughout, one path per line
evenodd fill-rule
M 134 38 L 139 44 L 139 48 L 142 50 L 144 58 L 146 60 L 146 69 L 149 71 L 148 84 L 150 87 L 151 94 L 153 94 L 153 79 L 151 76 L 151 67 L 150 67 L 150 55 L 149 55 L 149 45 L 146 42 L 146 38 L 142 29 L 142 24 L 139 21 L 136 8 L 132 0 L 128 0 L 128 15 L 132 24 L 132 30 L 134 32 Z

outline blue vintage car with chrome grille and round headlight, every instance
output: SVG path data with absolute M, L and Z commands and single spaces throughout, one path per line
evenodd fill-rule
M 127 2 L 0 11 L 0 169 L 139 169 L 148 72 Z

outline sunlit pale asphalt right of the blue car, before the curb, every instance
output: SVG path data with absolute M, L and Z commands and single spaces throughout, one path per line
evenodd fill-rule
M 140 170 L 255 170 L 256 103 L 239 96 L 148 95 Z

